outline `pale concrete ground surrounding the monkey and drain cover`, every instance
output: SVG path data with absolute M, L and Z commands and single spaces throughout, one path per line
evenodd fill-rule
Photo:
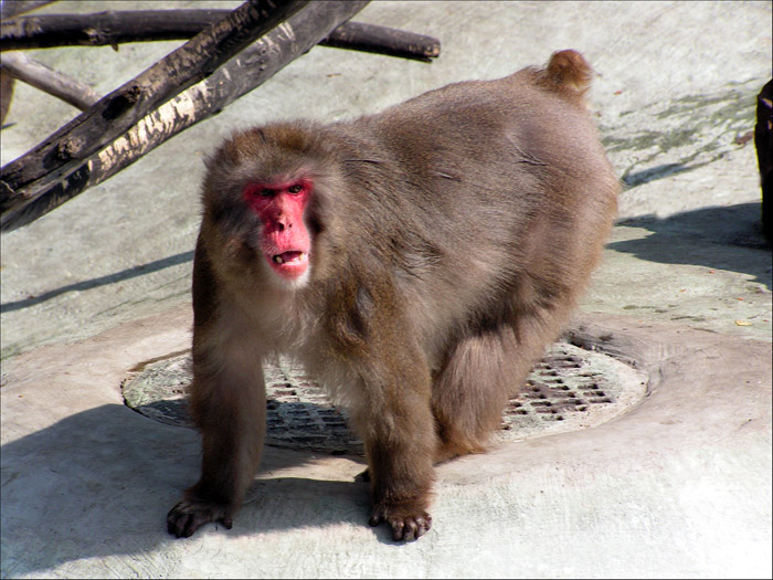
M 166 2 L 173 8 L 239 2 Z M 152 7 L 57 2 L 41 12 Z M 771 251 L 759 228 L 754 97 L 770 2 L 373 2 L 358 20 L 438 38 L 433 64 L 317 48 L 219 116 L 2 243 L 3 578 L 770 578 Z M 109 92 L 179 43 L 32 55 Z M 338 119 L 582 51 L 626 183 L 576 342 L 645 369 L 602 425 L 438 468 L 434 526 L 367 526 L 358 457 L 266 449 L 232 530 L 174 540 L 194 432 L 121 403 L 144 361 L 190 346 L 202 156 L 232 129 Z M 6 164 L 76 110 L 18 85 Z

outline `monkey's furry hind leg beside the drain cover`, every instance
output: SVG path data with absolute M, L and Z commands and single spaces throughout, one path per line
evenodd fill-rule
M 510 327 L 480 331 L 456 342 L 435 377 L 432 392 L 437 463 L 484 451 L 529 366 Z

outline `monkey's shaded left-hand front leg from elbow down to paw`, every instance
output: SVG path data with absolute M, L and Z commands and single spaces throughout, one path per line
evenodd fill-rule
M 216 350 L 222 360 L 194 365 L 190 404 L 203 462 L 199 483 L 167 516 L 167 528 L 178 538 L 209 521 L 231 528 L 263 451 L 266 390 L 260 357 L 233 344 Z

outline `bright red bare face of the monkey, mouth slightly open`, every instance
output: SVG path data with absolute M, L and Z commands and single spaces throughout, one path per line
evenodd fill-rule
M 263 224 L 261 250 L 268 265 L 282 280 L 300 282 L 308 271 L 311 247 L 304 222 L 311 181 L 250 183 L 242 194 Z

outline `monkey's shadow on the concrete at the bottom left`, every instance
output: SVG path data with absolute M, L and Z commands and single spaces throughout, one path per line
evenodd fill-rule
M 174 540 L 166 529 L 167 512 L 199 475 L 200 442 L 190 429 L 106 404 L 0 451 L 3 578 L 34 576 L 83 558 L 144 557 L 169 542 L 191 541 Z M 301 465 L 308 457 L 267 447 L 261 468 L 265 478 L 250 491 L 233 529 L 209 525 L 194 538 L 343 523 L 393 544 L 385 526 L 368 526 L 367 484 L 269 476 L 273 470 Z

